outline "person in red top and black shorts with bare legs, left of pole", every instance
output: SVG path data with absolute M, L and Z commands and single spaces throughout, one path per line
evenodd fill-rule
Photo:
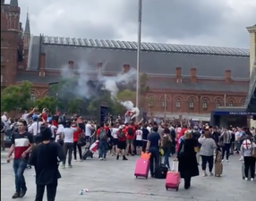
M 116 132 L 118 141 L 117 141 L 117 155 L 116 160 L 119 160 L 119 155 L 123 155 L 123 160 L 127 161 L 128 159 L 125 157 L 125 148 L 126 148 L 126 136 L 125 136 L 125 128 L 124 126 L 120 126 L 119 130 Z

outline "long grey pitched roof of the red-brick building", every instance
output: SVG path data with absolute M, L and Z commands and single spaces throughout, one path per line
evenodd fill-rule
M 46 53 L 46 69 L 50 70 L 59 70 L 68 61 L 74 62 L 76 70 L 95 71 L 99 62 L 104 64 L 105 71 L 112 72 L 121 71 L 123 64 L 136 67 L 137 53 L 134 42 L 48 37 L 41 39 L 31 38 L 28 66 L 30 70 L 38 69 L 40 46 Z M 196 68 L 198 77 L 223 79 L 225 71 L 231 70 L 232 79 L 248 80 L 249 66 L 247 49 L 141 44 L 141 72 L 149 75 L 168 77 L 175 75 L 176 67 L 182 67 L 183 76 L 190 75 L 191 68 Z

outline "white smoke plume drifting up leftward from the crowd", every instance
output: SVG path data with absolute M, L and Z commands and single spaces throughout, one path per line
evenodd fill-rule
M 88 82 L 91 79 L 91 76 L 88 75 L 88 73 L 92 72 L 92 74 L 95 74 L 95 67 L 91 67 L 88 63 L 79 63 L 78 65 L 78 73 L 75 75 L 75 80 L 77 81 L 76 86 L 63 86 L 63 89 L 67 93 L 71 93 L 74 96 L 79 96 L 81 98 L 91 98 L 92 96 L 96 96 L 95 88 L 94 90 L 90 88 L 88 85 Z M 94 68 L 94 69 L 93 69 Z M 101 67 L 101 70 L 104 70 L 104 66 Z M 71 69 L 68 65 L 64 66 L 64 68 L 61 71 L 61 75 L 64 79 L 69 80 L 73 78 L 73 69 Z M 134 107 L 132 104 L 132 101 L 121 101 L 117 98 L 117 94 L 119 92 L 118 85 L 134 85 L 136 81 L 136 75 L 137 71 L 133 68 L 130 69 L 130 71 L 127 71 L 125 73 L 118 73 L 115 76 L 105 76 L 102 74 L 102 71 L 98 71 L 98 77 L 96 78 L 100 85 L 102 85 L 102 89 L 107 90 L 110 92 L 111 99 L 113 101 L 118 102 L 121 105 L 124 105 L 124 107 L 132 111 L 134 113 L 132 115 L 133 119 L 136 116 L 140 115 L 140 110 L 138 107 Z

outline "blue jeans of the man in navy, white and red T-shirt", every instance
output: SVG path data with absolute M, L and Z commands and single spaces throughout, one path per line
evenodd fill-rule
M 15 174 L 15 188 L 17 192 L 21 190 L 26 191 L 26 181 L 24 178 L 24 171 L 27 167 L 28 161 L 25 159 L 14 159 L 13 160 L 13 171 Z

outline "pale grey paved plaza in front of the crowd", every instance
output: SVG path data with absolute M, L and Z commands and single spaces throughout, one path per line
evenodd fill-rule
M 1 200 L 9 201 L 14 192 L 12 164 L 5 163 L 6 154 L 1 153 Z M 185 201 L 255 201 L 256 182 L 242 180 L 241 162 L 237 155 L 230 163 L 224 163 L 221 178 L 201 176 L 192 179 L 192 188 L 183 189 L 183 182 L 178 192 L 166 191 L 165 180 L 140 180 L 133 176 L 136 157 L 129 161 L 116 161 L 108 156 L 106 162 L 96 158 L 82 163 L 73 163 L 73 169 L 61 170 L 63 178 L 59 180 L 56 200 L 59 201 L 115 201 L 115 200 L 171 200 Z M 33 170 L 25 172 L 29 188 L 23 201 L 32 201 L 35 197 Z M 90 192 L 79 195 L 81 188 Z M 47 200 L 45 198 L 45 200 Z

